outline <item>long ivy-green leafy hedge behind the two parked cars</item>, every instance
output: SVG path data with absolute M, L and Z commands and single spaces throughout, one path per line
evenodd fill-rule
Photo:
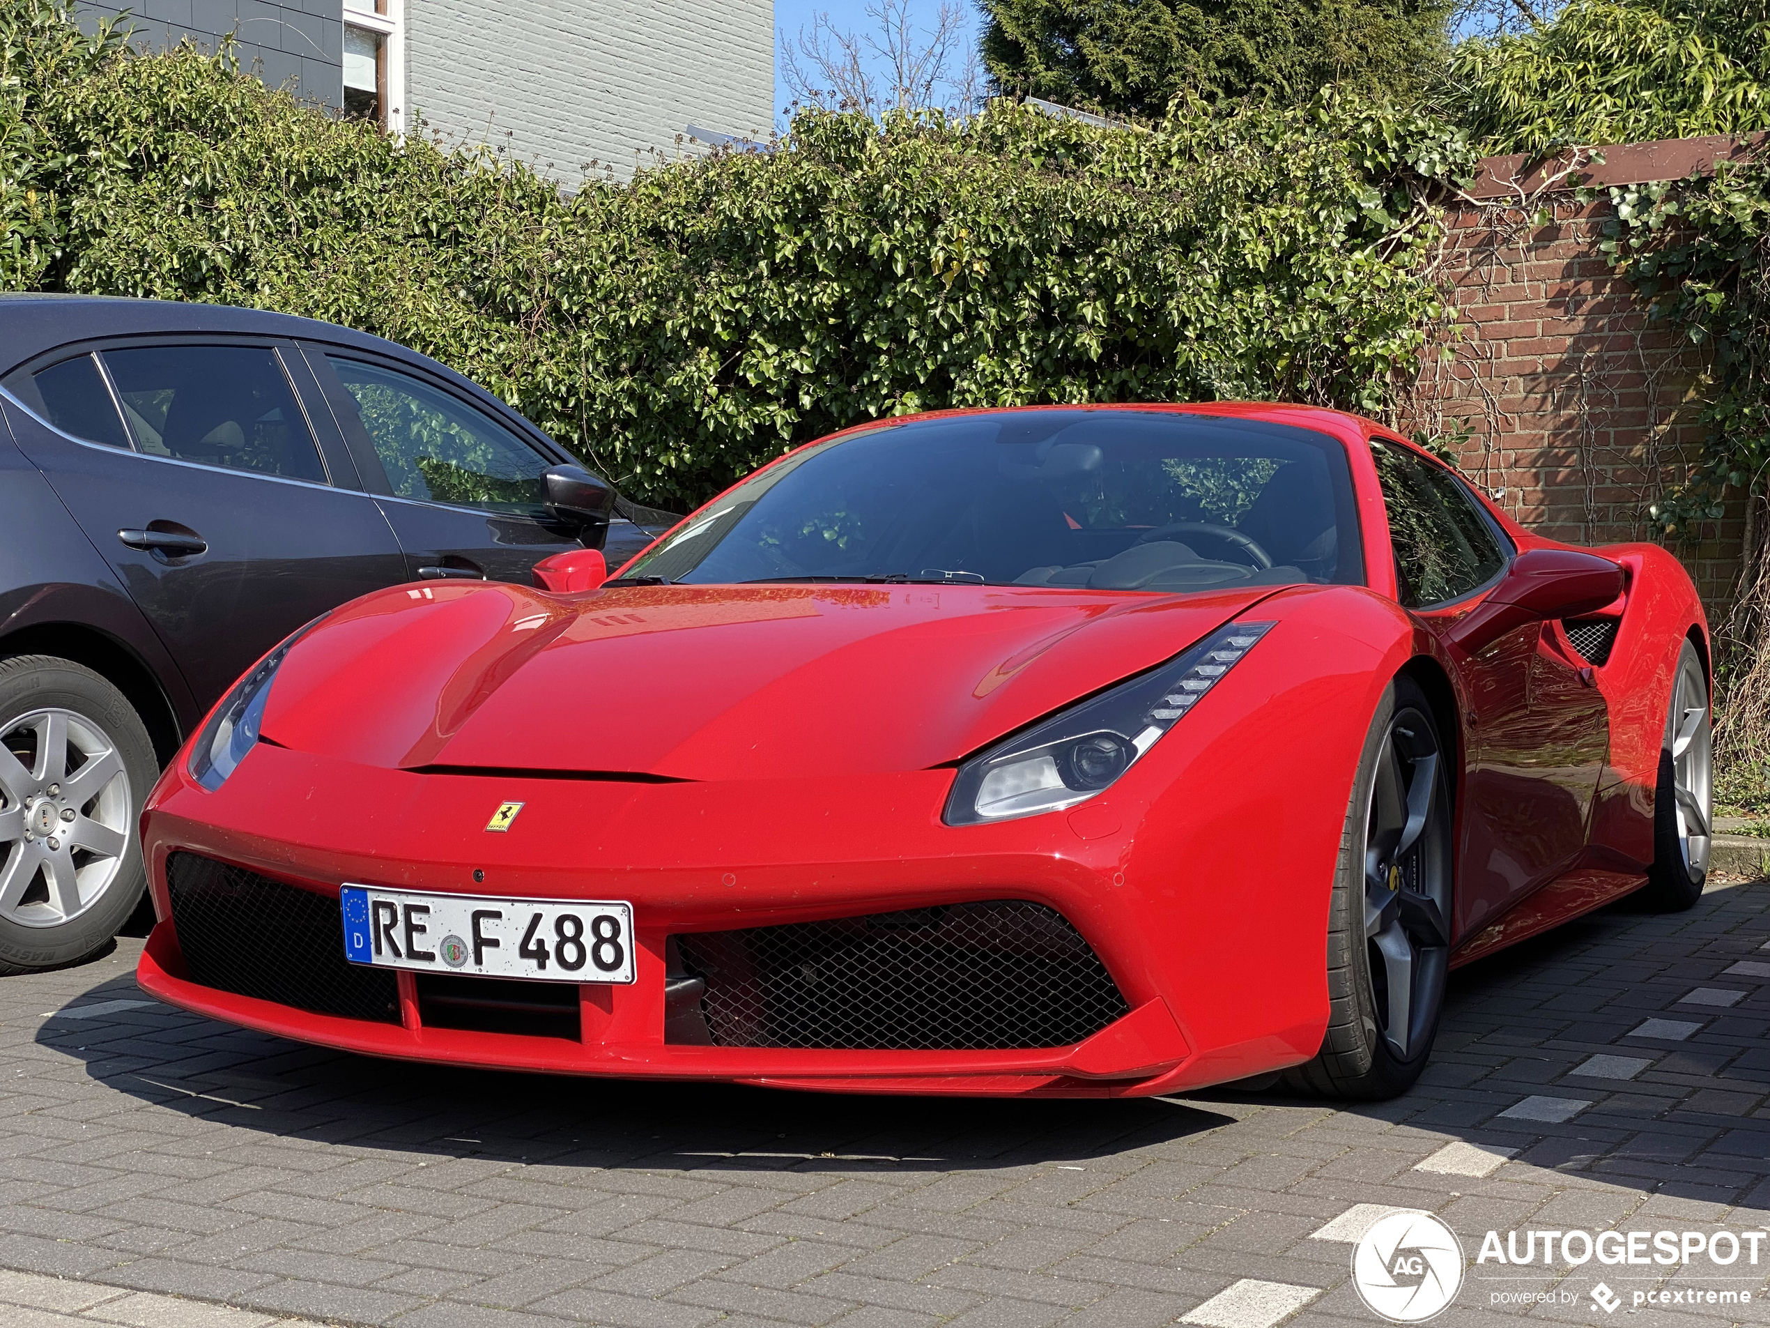
M 7 12 L 9 285 L 389 336 L 666 506 L 931 407 L 1384 413 L 1443 315 L 1423 189 L 1471 165 L 1450 126 L 1381 106 L 1181 108 L 1147 133 L 997 104 L 883 127 L 807 112 L 772 154 L 563 197 L 189 48 L 119 55 L 48 0 Z

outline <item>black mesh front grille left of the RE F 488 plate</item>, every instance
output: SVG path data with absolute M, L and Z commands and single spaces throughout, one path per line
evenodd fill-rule
M 166 891 L 193 983 L 315 1015 L 400 1022 L 393 974 L 343 958 L 338 896 L 196 853 L 166 859 Z

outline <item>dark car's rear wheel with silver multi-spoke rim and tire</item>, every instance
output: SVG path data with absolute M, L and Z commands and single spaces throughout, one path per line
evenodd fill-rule
M 0 660 L 0 974 L 83 960 L 135 912 L 158 768 L 142 717 L 97 673 Z

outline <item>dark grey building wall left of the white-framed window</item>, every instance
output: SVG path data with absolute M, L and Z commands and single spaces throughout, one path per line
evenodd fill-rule
M 120 7 L 81 0 L 80 16 L 113 18 Z M 232 32 L 239 66 L 297 97 L 343 104 L 343 0 L 138 0 L 129 5 L 133 44 L 165 48 L 186 35 L 205 51 Z

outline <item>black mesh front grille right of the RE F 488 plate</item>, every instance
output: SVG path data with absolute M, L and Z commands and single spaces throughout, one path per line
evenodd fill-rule
M 1129 1013 L 1062 914 L 1021 899 L 671 938 L 719 1046 L 1069 1046 Z M 692 990 L 692 988 L 685 988 Z M 696 1031 L 697 1032 L 697 1031 Z

